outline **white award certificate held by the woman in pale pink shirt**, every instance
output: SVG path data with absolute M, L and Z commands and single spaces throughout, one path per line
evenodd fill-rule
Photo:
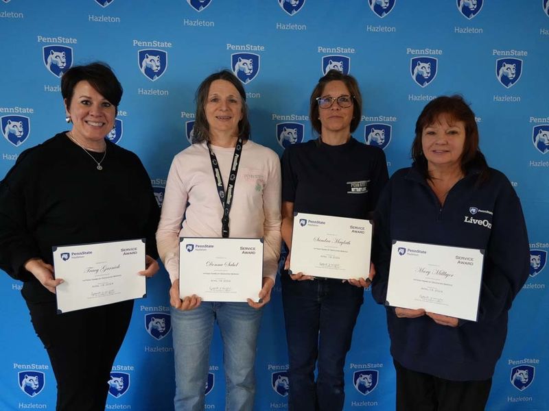
M 202 301 L 259 301 L 262 238 L 179 238 L 179 295 Z

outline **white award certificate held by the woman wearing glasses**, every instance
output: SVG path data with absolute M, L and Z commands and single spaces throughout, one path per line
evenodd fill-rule
M 318 214 L 294 214 L 291 273 L 340 279 L 370 272 L 372 223 Z

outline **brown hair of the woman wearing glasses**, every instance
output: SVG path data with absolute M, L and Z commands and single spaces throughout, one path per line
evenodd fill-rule
M 317 97 L 320 97 L 324 91 L 326 84 L 329 82 L 340 81 L 347 86 L 349 93 L 353 99 L 353 119 L 351 119 L 351 133 L 355 131 L 356 127 L 360 123 L 362 118 L 362 95 L 360 94 L 360 88 L 358 87 L 358 82 L 355 77 L 349 74 L 343 74 L 337 70 L 330 70 L 324 77 L 318 79 L 318 84 L 314 87 L 314 90 L 309 99 L 309 119 L 311 119 L 311 125 L 313 126 L 316 134 L 320 134 L 322 130 L 322 123 L 318 119 L 318 102 L 316 101 Z M 334 101 L 334 104 L 337 104 Z

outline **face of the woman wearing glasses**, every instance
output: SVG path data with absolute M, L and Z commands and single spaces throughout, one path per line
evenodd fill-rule
M 334 80 L 326 84 L 320 97 L 350 96 L 351 93 L 344 82 Z M 347 108 L 341 108 L 337 101 L 332 103 L 330 108 L 319 108 L 318 117 L 322 125 L 321 134 L 325 136 L 329 133 L 345 132 L 351 134 L 351 119 L 353 119 L 353 105 Z

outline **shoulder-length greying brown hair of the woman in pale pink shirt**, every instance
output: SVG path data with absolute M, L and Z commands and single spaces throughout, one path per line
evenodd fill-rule
M 250 138 L 250 122 L 248 121 L 248 105 L 246 105 L 246 92 L 240 80 L 229 70 L 218 71 L 206 77 L 196 89 L 196 115 L 194 120 L 193 144 L 209 141 L 210 128 L 206 119 L 206 103 L 210 86 L 215 80 L 225 80 L 235 86 L 242 99 L 242 119 L 238 122 L 238 136 L 242 140 Z

